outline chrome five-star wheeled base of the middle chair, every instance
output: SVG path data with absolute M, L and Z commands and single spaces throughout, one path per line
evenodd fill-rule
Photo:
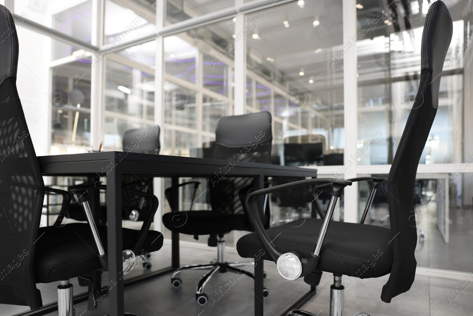
M 203 264 L 190 264 L 184 267 L 181 267 L 174 271 L 171 277 L 171 284 L 175 289 L 179 289 L 182 285 L 182 280 L 177 277 L 177 275 L 184 270 L 209 270 L 205 273 L 195 289 L 195 299 L 199 305 L 205 305 L 209 301 L 209 296 L 203 292 L 207 282 L 217 273 L 225 272 L 234 272 L 238 275 L 237 279 L 240 279 L 243 275 L 254 280 L 254 275 L 251 272 L 248 272 L 250 267 L 254 267 L 254 262 L 226 262 L 225 261 L 225 239 L 223 234 L 219 234 L 218 243 L 217 243 L 217 259 L 211 261 L 210 263 Z M 232 286 L 232 281 L 230 280 L 226 286 Z M 225 286 L 220 286 L 218 290 L 215 291 L 215 294 L 210 297 L 210 300 L 213 302 L 220 299 L 224 293 L 227 292 L 229 288 L 225 289 Z M 267 297 L 270 294 L 269 289 L 263 288 L 263 297 Z

